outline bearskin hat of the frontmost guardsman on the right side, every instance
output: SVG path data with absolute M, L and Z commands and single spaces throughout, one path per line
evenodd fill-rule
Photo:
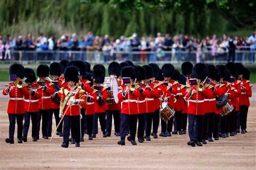
M 191 76 L 203 81 L 208 76 L 207 66 L 203 63 L 197 63 L 192 70 Z

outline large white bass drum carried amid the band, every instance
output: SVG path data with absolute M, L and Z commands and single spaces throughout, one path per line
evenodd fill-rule
M 105 77 L 104 87 L 107 87 L 108 98 L 106 99 L 107 104 L 117 104 L 118 103 L 118 81 L 115 77 Z

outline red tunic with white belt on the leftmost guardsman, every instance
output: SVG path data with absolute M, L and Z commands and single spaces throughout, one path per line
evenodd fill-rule
M 11 87 L 10 91 L 8 91 L 9 87 L 6 87 L 3 90 L 3 95 L 9 95 L 9 103 L 7 107 L 8 114 L 25 114 L 24 100 L 23 97 L 25 94 L 28 94 L 27 86 L 23 88 L 17 88 L 14 83 L 9 83 Z

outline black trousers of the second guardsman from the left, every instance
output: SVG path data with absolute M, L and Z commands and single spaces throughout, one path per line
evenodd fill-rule
M 28 136 L 28 129 L 30 125 L 30 117 L 32 122 L 32 137 L 36 137 L 36 119 L 38 112 L 26 112 L 24 115 L 24 124 L 23 124 L 23 137 Z

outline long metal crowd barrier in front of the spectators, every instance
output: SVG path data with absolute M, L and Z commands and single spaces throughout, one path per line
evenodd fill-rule
M 18 63 L 42 63 L 60 60 L 82 60 L 90 63 L 107 63 L 113 60 L 122 62 L 131 60 L 134 63 L 181 63 L 183 61 L 204 62 L 204 63 L 226 63 L 229 56 L 234 56 L 235 62 L 255 63 L 256 50 L 236 50 L 229 52 L 213 53 L 210 50 L 204 51 L 183 51 L 183 50 L 157 50 L 157 51 L 62 51 L 62 50 L 12 50 L 10 60 L 0 60 L 0 62 Z M 232 61 L 232 58 L 231 58 Z

